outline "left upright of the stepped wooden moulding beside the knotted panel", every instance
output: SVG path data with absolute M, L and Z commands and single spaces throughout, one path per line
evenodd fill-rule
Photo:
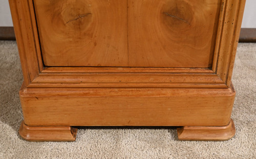
M 39 62 L 35 46 L 31 14 L 28 1 L 10 0 L 12 21 L 16 35 L 24 84 L 28 85 L 39 74 Z

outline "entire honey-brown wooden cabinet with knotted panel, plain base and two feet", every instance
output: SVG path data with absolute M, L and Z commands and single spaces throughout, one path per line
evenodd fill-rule
M 182 126 L 228 140 L 231 75 L 245 1 L 9 0 L 29 141 L 74 141 L 72 126 Z

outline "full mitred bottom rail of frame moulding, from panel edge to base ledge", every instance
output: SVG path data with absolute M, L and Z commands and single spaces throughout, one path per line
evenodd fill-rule
M 28 87 L 227 88 L 209 69 L 47 67 Z

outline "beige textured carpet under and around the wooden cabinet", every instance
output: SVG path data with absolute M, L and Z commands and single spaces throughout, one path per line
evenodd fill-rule
M 18 90 L 22 70 L 15 41 L 0 41 L 0 158 L 256 158 L 256 43 L 240 43 L 233 72 L 232 119 L 237 133 L 224 142 L 177 141 L 174 127 L 82 127 L 76 142 L 27 142 Z

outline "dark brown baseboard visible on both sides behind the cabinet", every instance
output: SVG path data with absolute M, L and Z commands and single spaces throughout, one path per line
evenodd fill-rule
M 0 40 L 15 40 L 13 27 L 0 27 Z M 242 28 L 239 42 L 256 42 L 256 28 Z

